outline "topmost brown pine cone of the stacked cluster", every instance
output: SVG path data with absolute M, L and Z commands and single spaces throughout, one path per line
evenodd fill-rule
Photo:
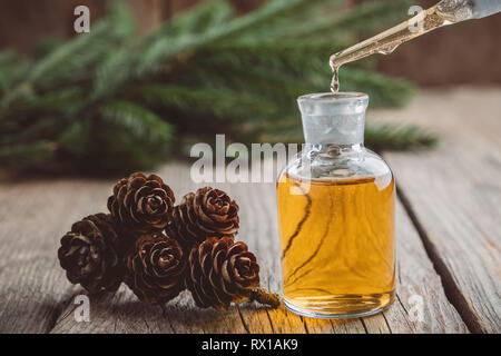
M 175 197 L 156 175 L 136 172 L 120 179 L 108 198 L 108 209 L 122 228 L 146 234 L 167 226 Z

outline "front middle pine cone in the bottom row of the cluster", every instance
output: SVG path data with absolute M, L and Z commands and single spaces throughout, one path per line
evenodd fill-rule
M 143 301 L 166 303 L 185 289 L 186 257 L 161 233 L 143 235 L 125 258 L 125 283 Z

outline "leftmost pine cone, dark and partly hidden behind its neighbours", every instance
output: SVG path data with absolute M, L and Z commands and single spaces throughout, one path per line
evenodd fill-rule
M 110 215 L 96 214 L 75 222 L 58 250 L 68 279 L 89 293 L 117 290 L 122 276 L 118 241 Z

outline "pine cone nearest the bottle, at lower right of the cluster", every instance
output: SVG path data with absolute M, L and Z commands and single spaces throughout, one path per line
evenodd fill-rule
M 200 308 L 225 310 L 252 298 L 259 285 L 259 265 L 244 243 L 208 238 L 189 254 L 186 287 Z

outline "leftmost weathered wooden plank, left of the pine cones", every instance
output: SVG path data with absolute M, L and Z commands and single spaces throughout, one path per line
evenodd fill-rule
M 59 239 L 72 221 L 105 207 L 91 198 L 104 186 L 60 179 L 0 182 L 1 333 L 52 327 L 72 289 L 57 260 Z

